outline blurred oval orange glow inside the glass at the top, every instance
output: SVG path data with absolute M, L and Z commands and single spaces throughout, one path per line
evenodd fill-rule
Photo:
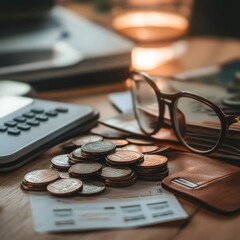
M 159 11 L 129 11 L 113 20 L 113 27 L 139 41 L 156 41 L 182 36 L 188 21 L 176 13 Z

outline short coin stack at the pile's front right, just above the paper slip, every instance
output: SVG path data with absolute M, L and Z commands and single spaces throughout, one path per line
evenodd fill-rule
M 127 187 L 137 181 L 137 176 L 129 167 L 106 166 L 99 174 L 104 183 L 111 187 Z

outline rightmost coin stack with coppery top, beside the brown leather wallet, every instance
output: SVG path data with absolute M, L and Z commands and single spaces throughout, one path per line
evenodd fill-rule
M 134 169 L 140 179 L 157 181 L 168 176 L 168 159 L 161 155 L 145 155 L 144 161 L 135 164 Z

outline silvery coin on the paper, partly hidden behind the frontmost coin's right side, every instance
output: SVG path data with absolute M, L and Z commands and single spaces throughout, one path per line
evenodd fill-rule
M 104 192 L 106 189 L 105 184 L 99 181 L 83 181 L 82 191 L 79 191 L 79 195 L 96 195 Z

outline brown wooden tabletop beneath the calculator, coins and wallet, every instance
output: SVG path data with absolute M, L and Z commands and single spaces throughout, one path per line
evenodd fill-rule
M 158 73 L 174 73 L 217 62 L 240 57 L 240 41 L 219 39 L 189 39 L 188 51 L 179 60 L 173 61 L 158 69 Z M 107 94 L 125 89 L 122 83 L 72 89 L 61 92 L 38 94 L 40 98 L 87 104 L 97 108 L 101 118 L 116 114 L 108 101 Z M 197 205 L 179 199 L 189 214 L 185 222 L 164 223 L 137 229 L 105 230 L 66 234 L 37 234 L 34 232 L 33 218 L 28 193 L 20 189 L 24 175 L 34 169 L 48 168 L 52 156 L 60 154 L 61 149 L 54 147 L 35 161 L 24 167 L 0 175 L 0 238 L 9 239 L 239 239 L 240 215 L 222 216 Z M 219 196 L 221 197 L 221 196 Z

